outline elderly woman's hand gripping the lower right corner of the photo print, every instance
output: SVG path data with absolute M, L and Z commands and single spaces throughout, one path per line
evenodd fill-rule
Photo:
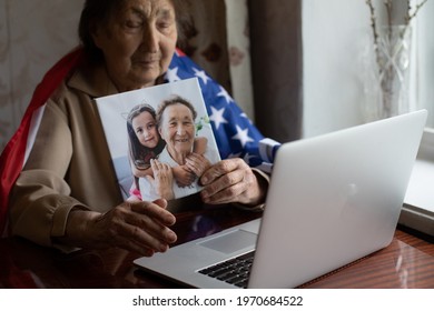
M 258 179 L 243 159 L 227 159 L 210 167 L 200 178 L 206 203 L 239 202 L 248 205 L 264 203 L 267 183 Z

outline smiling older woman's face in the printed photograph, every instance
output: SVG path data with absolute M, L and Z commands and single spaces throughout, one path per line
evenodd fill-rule
M 195 142 L 195 120 L 191 110 L 181 103 L 168 106 L 161 116 L 160 136 L 170 156 L 188 154 Z

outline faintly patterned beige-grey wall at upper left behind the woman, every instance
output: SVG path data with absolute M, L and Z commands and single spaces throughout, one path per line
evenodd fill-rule
M 42 76 L 77 46 L 83 1 L 0 1 L 0 152 Z

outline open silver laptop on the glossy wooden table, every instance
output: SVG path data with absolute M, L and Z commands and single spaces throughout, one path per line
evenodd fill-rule
M 294 288 L 388 245 L 426 114 L 283 144 L 260 220 L 134 263 L 194 288 Z

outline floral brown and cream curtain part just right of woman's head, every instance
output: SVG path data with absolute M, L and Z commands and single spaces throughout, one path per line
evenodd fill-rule
M 247 0 L 189 0 L 193 27 L 186 53 L 226 88 L 255 119 Z

